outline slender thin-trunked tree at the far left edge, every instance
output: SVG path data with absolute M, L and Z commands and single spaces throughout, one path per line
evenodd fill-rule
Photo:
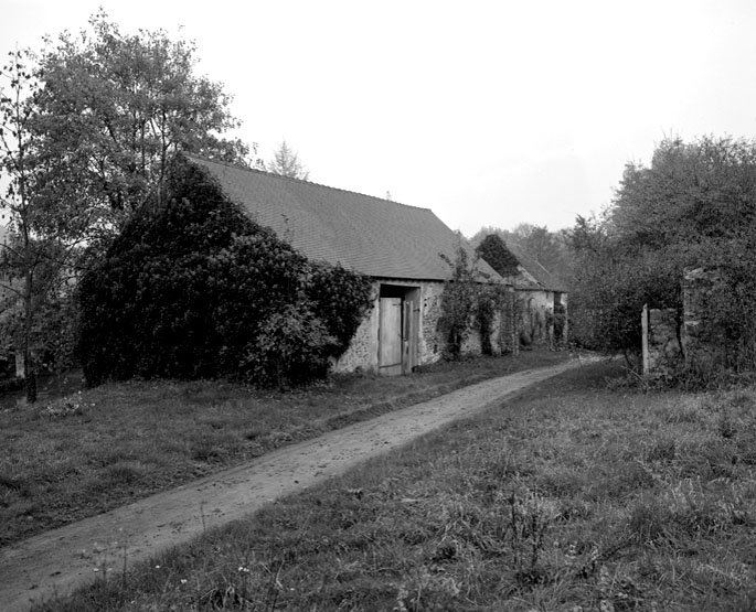
M 70 279 L 83 253 L 86 229 L 96 213 L 79 195 L 76 183 L 52 164 L 40 121 L 40 83 L 28 51 L 9 54 L 0 71 L 0 175 L 7 186 L 0 206 L 10 233 L 0 251 L 2 337 L 23 355 L 26 399 L 36 399 L 39 361 L 52 352 L 61 358 L 73 323 Z M 66 194 L 68 197 L 63 196 Z

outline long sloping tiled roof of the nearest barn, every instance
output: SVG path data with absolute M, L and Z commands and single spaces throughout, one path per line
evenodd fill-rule
M 259 225 L 270 227 L 312 260 L 341 264 L 372 277 L 443 280 L 464 237 L 428 208 L 327 187 L 195 155 L 187 158 L 206 169 L 224 193 Z M 485 261 L 479 269 L 491 280 L 501 277 Z

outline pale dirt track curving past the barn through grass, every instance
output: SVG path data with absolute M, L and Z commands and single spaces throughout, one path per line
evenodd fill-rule
M 104 568 L 119 571 L 125 560 L 132 565 L 146 559 L 577 365 L 575 361 L 465 387 L 2 548 L 0 608 L 28 610 L 32 601 L 102 576 Z

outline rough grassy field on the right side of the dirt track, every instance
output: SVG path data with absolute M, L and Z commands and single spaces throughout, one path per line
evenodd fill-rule
M 756 390 L 618 391 L 613 367 L 40 610 L 754 610 Z

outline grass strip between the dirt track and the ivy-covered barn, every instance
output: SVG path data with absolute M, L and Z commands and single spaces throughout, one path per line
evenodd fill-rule
M 291 441 L 565 358 L 533 351 L 390 379 L 338 377 L 286 394 L 217 382 L 135 382 L 0 410 L 0 546 Z

